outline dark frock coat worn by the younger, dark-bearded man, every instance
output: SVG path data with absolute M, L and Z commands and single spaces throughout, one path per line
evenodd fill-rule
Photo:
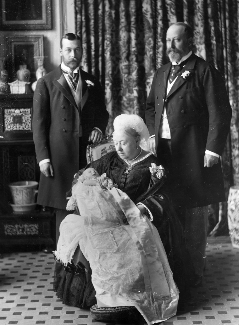
M 37 203 L 66 209 L 66 191 L 79 170 L 79 124 L 83 129 L 83 144 L 94 127 L 103 134 L 108 123 L 104 92 L 99 81 L 80 69 L 82 78 L 81 112 L 71 94 L 60 66 L 40 78 L 33 98 L 33 140 L 37 162 L 49 158 L 54 177 L 42 173 Z M 86 80 L 94 83 L 87 86 Z

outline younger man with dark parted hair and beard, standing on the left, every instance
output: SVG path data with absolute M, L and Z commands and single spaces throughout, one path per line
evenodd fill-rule
M 33 98 L 33 140 L 41 176 L 37 203 L 56 210 L 56 230 L 68 214 L 66 192 L 86 165 L 86 144 L 100 142 L 109 114 L 104 92 L 80 68 L 82 43 L 68 33 L 60 41 L 61 65 L 40 78 Z

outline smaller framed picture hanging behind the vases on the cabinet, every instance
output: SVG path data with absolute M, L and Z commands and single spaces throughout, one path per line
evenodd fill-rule
M 16 78 L 20 65 L 26 65 L 31 79 L 36 79 L 37 62 L 34 57 L 44 56 L 43 35 L 17 35 L 6 37 L 8 72 L 10 80 Z

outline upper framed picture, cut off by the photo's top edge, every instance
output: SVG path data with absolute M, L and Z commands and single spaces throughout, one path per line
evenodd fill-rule
M 51 0 L 0 0 L 1 30 L 52 29 Z

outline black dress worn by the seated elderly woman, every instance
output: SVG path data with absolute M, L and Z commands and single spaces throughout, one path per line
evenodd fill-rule
M 192 272 L 191 263 L 185 248 L 182 227 L 170 204 L 165 183 L 167 176 L 158 179 L 155 175 L 151 175 L 149 167 L 152 163 L 160 165 L 159 160 L 149 153 L 139 162 L 132 164 L 132 170 L 128 171 L 127 164 L 114 151 L 87 167 L 95 168 L 100 175 L 106 173 L 135 204 L 141 202 L 150 210 L 153 215 L 152 223 L 159 232 L 173 272 L 173 279 L 180 291 L 180 299 L 187 299 L 189 298 L 188 282 L 193 274 L 189 274 Z M 82 171 L 79 171 L 75 176 L 72 186 L 81 173 Z M 70 195 L 71 191 L 67 196 Z M 74 253 L 72 264 L 68 263 L 64 269 L 61 264 L 56 263 L 54 291 L 66 305 L 89 308 L 96 304 L 95 290 L 91 282 L 91 268 L 79 246 Z

